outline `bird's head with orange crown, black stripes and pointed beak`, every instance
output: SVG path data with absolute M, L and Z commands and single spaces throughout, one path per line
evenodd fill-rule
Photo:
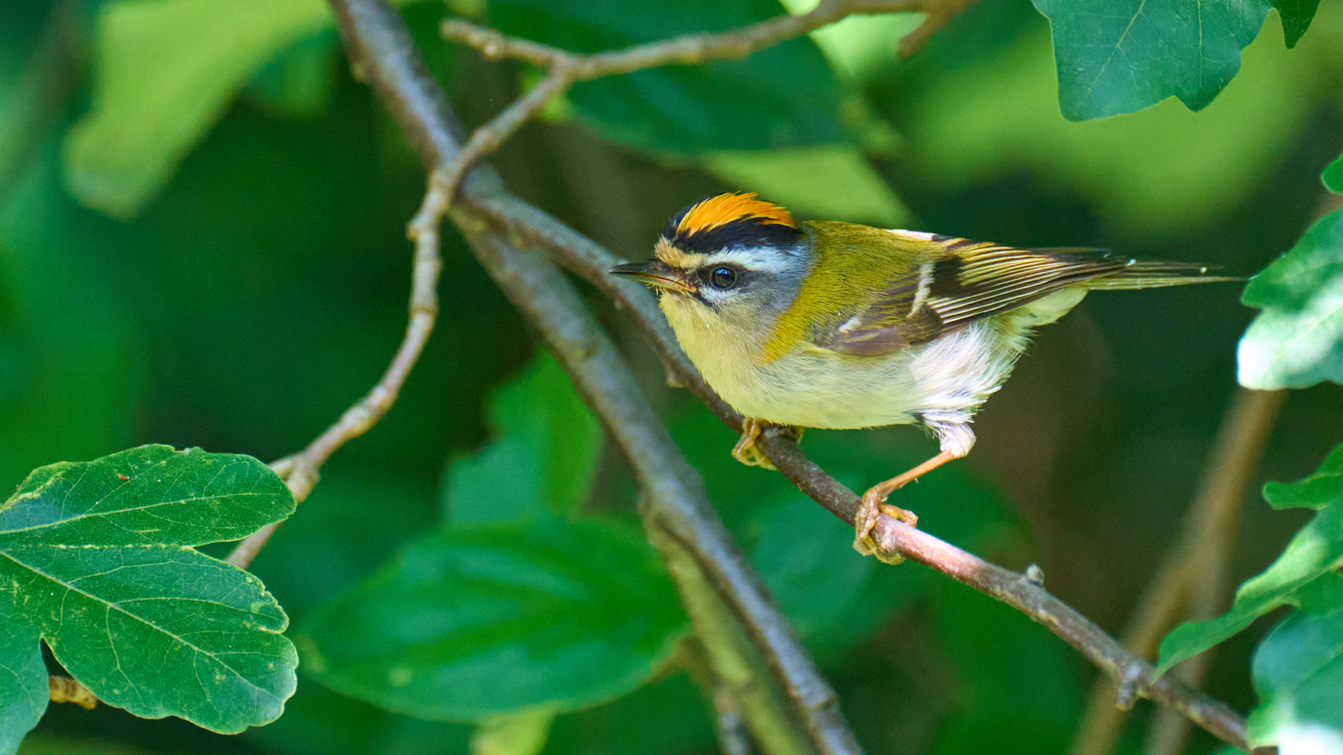
M 808 232 L 787 210 L 755 193 L 724 193 L 667 220 L 649 262 L 618 265 L 615 275 L 663 294 L 663 308 L 737 325 L 772 322 L 811 267 Z

